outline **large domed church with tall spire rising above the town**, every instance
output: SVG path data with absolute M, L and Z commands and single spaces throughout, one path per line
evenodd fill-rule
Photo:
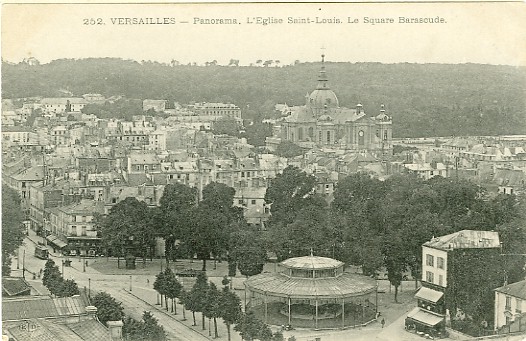
M 290 141 L 308 149 L 343 149 L 376 156 L 392 154 L 391 116 L 383 105 L 376 115 L 366 114 L 361 104 L 340 107 L 329 87 L 324 55 L 316 89 L 306 96 L 305 105 L 287 108 L 287 114 L 268 142 Z

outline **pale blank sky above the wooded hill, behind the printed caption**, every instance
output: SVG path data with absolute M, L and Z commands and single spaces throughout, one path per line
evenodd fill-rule
M 258 24 L 258 17 L 273 23 Z M 400 23 L 400 17 L 442 23 Z M 175 23 L 120 25 L 118 18 Z M 237 23 L 199 24 L 196 18 Z M 289 24 L 289 18 L 313 22 Z M 10 62 L 118 57 L 221 65 L 272 59 L 283 65 L 318 61 L 323 52 L 333 62 L 525 66 L 524 18 L 525 2 L 3 4 L 1 55 Z

